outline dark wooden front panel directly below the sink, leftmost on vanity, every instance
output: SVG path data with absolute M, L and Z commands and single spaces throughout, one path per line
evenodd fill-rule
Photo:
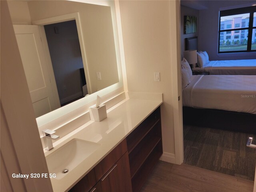
M 84 176 L 69 192 L 88 192 L 96 184 L 94 169 Z

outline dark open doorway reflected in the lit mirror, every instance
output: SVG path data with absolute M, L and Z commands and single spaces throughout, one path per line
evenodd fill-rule
M 76 21 L 44 26 L 61 106 L 87 92 Z

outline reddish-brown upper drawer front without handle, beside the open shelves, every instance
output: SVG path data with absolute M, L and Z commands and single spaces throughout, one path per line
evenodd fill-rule
M 110 168 L 125 154 L 127 151 L 126 139 L 124 139 L 116 148 L 114 148 L 101 162 L 94 168 L 96 181 L 98 182 Z

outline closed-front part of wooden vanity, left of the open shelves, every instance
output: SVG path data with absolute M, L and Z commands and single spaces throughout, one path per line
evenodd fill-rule
M 132 192 L 126 139 L 69 192 Z

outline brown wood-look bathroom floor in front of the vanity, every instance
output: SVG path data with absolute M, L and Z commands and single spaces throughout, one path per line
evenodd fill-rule
M 140 192 L 252 192 L 254 182 L 159 161 Z

